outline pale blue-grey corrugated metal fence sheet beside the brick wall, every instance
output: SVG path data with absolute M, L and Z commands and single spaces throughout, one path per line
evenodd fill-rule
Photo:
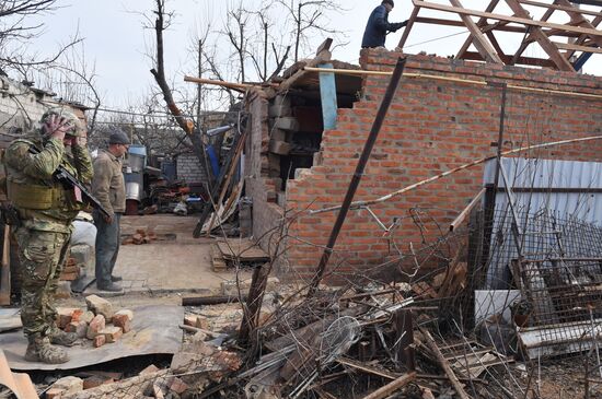
M 514 190 L 524 257 L 602 256 L 602 163 L 502 159 L 502 165 Z M 485 165 L 485 185 L 494 183 L 496 167 L 496 160 Z M 511 225 L 508 195 L 499 191 L 486 289 L 508 287 L 508 266 L 518 258 Z

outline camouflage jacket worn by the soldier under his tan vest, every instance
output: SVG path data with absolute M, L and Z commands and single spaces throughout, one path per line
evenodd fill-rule
M 42 151 L 38 154 L 30 153 L 32 145 Z M 49 209 L 27 209 L 15 204 L 23 225 L 32 230 L 69 233 L 71 222 L 83 204 L 77 202 L 74 195 L 57 183 L 53 174 L 62 165 L 81 183 L 90 184 L 93 169 L 88 149 L 73 145 L 69 151 L 60 140 L 44 139 L 39 130 L 35 130 L 12 141 L 4 152 L 3 162 L 7 185 L 44 186 L 65 191 L 63 200 Z

